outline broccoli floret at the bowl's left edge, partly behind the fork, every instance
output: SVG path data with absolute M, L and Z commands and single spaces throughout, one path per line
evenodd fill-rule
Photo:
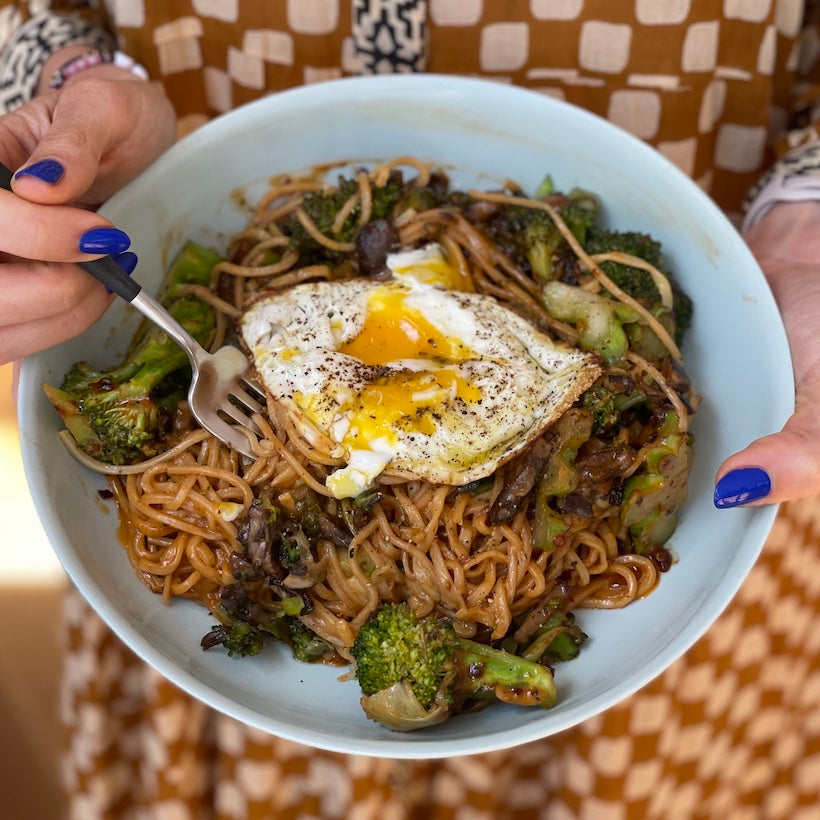
M 188 243 L 166 277 L 162 299 L 171 315 L 199 342 L 213 331 L 213 308 L 193 296 L 179 296 L 186 284 L 206 284 L 221 257 Z M 190 381 L 188 357 L 165 331 L 144 323 L 122 364 L 95 370 L 75 364 L 61 388 L 44 391 L 78 446 L 110 464 L 129 464 L 162 448 L 170 414 L 184 391 L 179 378 Z M 173 375 L 173 378 L 171 378 Z

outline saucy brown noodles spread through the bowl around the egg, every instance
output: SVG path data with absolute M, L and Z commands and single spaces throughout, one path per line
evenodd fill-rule
M 335 279 L 350 264 L 335 267 L 303 258 L 288 239 L 288 220 L 296 220 L 325 251 L 351 256 L 354 243 L 334 235 L 351 219 L 362 228 L 374 218 L 377 189 L 400 166 L 416 170 L 415 186 L 430 183 L 429 166 L 411 157 L 397 158 L 369 173 L 361 171 L 356 175 L 356 191 L 341 206 L 329 233 L 322 232 L 305 209 L 305 197 L 327 191 L 328 186 L 290 179 L 274 185 L 260 200 L 250 226 L 231 241 L 231 259 L 214 268 L 211 288 L 186 290 L 221 314 L 220 343 L 254 293 Z M 587 255 L 558 209 L 547 202 L 505 193 L 469 194 L 493 206 L 546 210 L 587 275 L 581 286 L 602 287 L 635 308 L 669 355 L 680 358 L 667 329 L 615 285 L 599 263 L 614 260 L 646 270 L 663 304 L 671 307 L 672 291 L 664 274 L 623 254 Z M 539 298 L 540 284 L 458 208 L 447 204 L 394 213 L 393 220 L 404 246 L 438 242 L 463 289 L 490 294 L 565 343 L 578 343 L 578 331 L 547 312 Z M 673 411 L 678 432 L 686 433 L 687 404 L 661 365 L 630 352 L 607 376 L 639 385 L 644 384 L 644 376 L 651 379 L 658 394 L 653 401 Z M 613 436 L 612 441 L 590 439 L 593 455 L 608 452 L 607 447 L 622 447 L 631 448 L 634 458 L 616 478 L 607 479 L 615 500 L 601 496 L 590 509 L 554 511 L 563 529 L 548 545 L 536 543 L 534 493 L 511 520 L 494 520 L 494 504 L 511 480 L 514 462 L 474 488 L 433 485 L 388 471 L 361 504 L 358 499 L 340 501 L 324 484 L 344 464 L 339 445 L 319 430 L 306 429 L 302 419 L 297 425 L 275 403 L 254 421 L 262 436 L 254 443 L 253 459 L 238 457 L 183 420 L 174 431 L 175 443 L 161 456 L 141 465 L 105 470 L 119 507 L 128 558 L 140 580 L 166 600 L 191 598 L 224 617 L 220 613 L 225 591 L 240 581 L 243 594 L 265 612 L 275 611 L 288 596 L 301 597 L 304 607 L 299 620 L 334 647 L 340 658 L 349 660 L 358 627 L 384 601 L 407 601 L 420 616 L 448 615 L 459 634 L 500 641 L 556 589 L 564 590 L 564 609 L 612 609 L 647 595 L 658 582 L 652 556 L 634 551 L 616 498 L 630 476 L 646 469 L 657 445 L 651 420 L 641 422 L 642 426 L 636 421 L 634 430 L 619 433 L 620 438 Z M 303 565 L 276 578 L 273 585 L 258 575 L 242 581 L 237 569 L 240 558 L 250 560 L 246 531 L 249 515 L 257 509 L 278 509 L 296 518 L 309 509 L 323 527 L 319 535 L 311 535 Z

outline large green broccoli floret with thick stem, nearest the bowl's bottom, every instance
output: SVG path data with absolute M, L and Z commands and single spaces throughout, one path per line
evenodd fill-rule
M 546 666 L 461 638 L 448 620 L 419 619 L 407 604 L 379 607 L 351 652 L 365 712 L 393 729 L 441 722 L 476 700 L 555 703 Z

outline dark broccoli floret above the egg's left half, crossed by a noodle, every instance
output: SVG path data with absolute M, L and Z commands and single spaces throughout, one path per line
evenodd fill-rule
M 356 207 L 351 209 L 340 230 L 334 231 L 333 223 L 345 203 L 358 190 L 359 183 L 355 179 L 339 177 L 335 190 L 315 191 L 308 194 L 302 201 L 302 210 L 325 236 L 336 242 L 352 242 L 359 228 L 361 205 L 357 203 Z M 373 186 L 371 189 L 371 220 L 387 219 L 399 201 L 401 193 L 401 185 L 395 179 L 389 179 L 382 186 Z M 337 262 L 344 258 L 344 254 L 339 254 L 319 244 L 304 229 L 295 215 L 290 218 L 287 230 L 291 245 L 297 248 L 307 261 Z

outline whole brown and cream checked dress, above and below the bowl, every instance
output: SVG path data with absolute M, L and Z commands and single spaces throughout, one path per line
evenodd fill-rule
M 29 5 L 43 3 L 12 4 Z M 729 211 L 771 161 L 774 138 L 789 139 L 794 95 L 804 116 L 815 99 L 797 81 L 810 77 L 820 37 L 801 34 L 798 0 L 425 6 L 429 71 L 519 83 L 608 117 Z M 350 0 L 108 7 L 182 130 L 271 90 L 360 70 Z M 214 713 L 141 664 L 72 593 L 69 815 L 817 820 L 818 567 L 820 502 L 786 505 L 728 610 L 638 694 L 544 741 L 434 762 L 311 750 Z

